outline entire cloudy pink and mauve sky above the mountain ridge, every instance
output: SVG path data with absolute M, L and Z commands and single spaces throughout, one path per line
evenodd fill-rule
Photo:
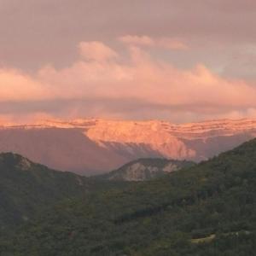
M 0 0 L 0 120 L 256 117 L 256 1 Z

